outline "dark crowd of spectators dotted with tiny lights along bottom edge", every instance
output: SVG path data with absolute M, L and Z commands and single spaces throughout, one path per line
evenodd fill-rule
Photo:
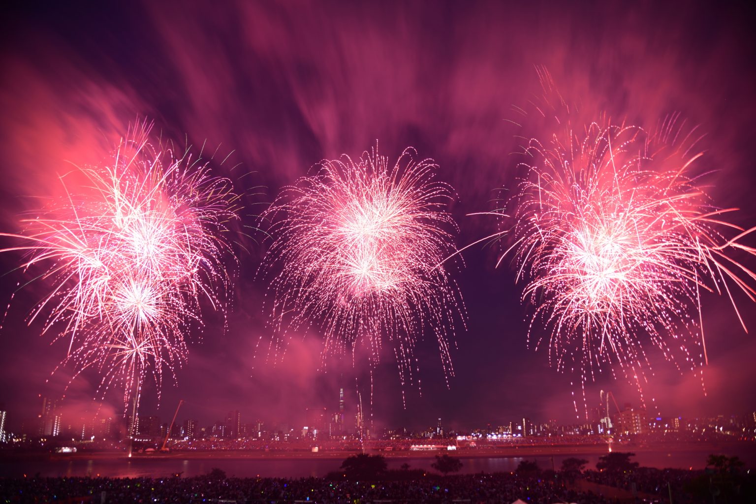
M 412 481 L 324 478 L 17 478 L 0 479 L 0 502 L 615 502 L 556 480 L 518 474 L 455 475 Z

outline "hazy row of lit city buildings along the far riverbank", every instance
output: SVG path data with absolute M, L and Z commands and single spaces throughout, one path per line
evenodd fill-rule
M 603 413 L 603 414 L 601 414 Z M 351 416 L 350 416 L 351 417 Z M 60 413 L 54 400 L 42 397 L 42 408 L 37 419 L 21 425 L 21 438 L 66 438 L 72 440 L 119 440 L 127 437 L 122 418 L 93 416 L 91 418 L 67 418 Z M 683 419 L 680 416 L 649 416 L 643 408 L 626 404 L 612 414 L 593 412 L 589 422 L 574 425 L 559 425 L 556 421 L 537 423 L 528 417 L 499 422 L 495 425 L 473 428 L 469 431 L 445 431 L 441 419 L 435 426 L 422 431 L 386 429 L 371 432 L 359 412 L 352 421 L 345 422 L 343 390 L 339 394 L 338 409 L 329 412 L 325 407 L 305 410 L 304 425 L 278 422 L 266 425 L 262 420 L 243 422 L 239 410 L 233 410 L 223 420 L 212 425 L 200 426 L 196 419 L 183 419 L 169 424 L 158 416 L 138 416 L 135 422 L 135 437 L 144 440 L 172 439 L 258 439 L 271 441 L 337 440 L 347 438 L 373 439 L 442 439 L 455 436 L 477 438 L 528 438 L 554 435 L 635 435 L 668 432 L 718 432 L 748 438 L 756 437 L 756 412 L 744 416 L 716 416 L 705 419 Z M 6 430 L 7 413 L 0 410 L 0 442 L 7 443 L 11 434 Z

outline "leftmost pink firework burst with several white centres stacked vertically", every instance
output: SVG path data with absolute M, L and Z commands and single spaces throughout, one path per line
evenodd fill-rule
M 181 365 L 203 303 L 225 313 L 224 233 L 237 218 L 230 181 L 154 149 L 150 128 L 130 131 L 112 165 L 76 170 L 85 184 L 73 193 L 64 183 L 66 197 L 24 219 L 22 233 L 3 233 L 23 242 L 3 252 L 26 252 L 21 269 L 42 271 L 29 281 L 49 285 L 29 323 L 45 317 L 42 332 L 68 339 L 75 376 L 98 369 L 102 394 L 122 383 L 126 403 L 147 373 L 160 385 L 164 366 Z

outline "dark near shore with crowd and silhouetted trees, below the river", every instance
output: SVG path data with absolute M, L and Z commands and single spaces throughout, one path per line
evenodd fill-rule
M 756 475 L 738 457 L 710 455 L 705 470 L 639 467 L 634 453 L 601 456 L 598 471 L 585 470 L 587 460 L 565 459 L 559 472 L 522 460 L 514 472 L 452 475 L 460 459 L 437 456 L 432 467 L 389 470 L 380 455 L 358 454 L 345 459 L 326 478 L 227 478 L 214 468 L 193 478 L 0 478 L 0 504 L 57 502 L 119 504 L 137 502 L 246 502 L 284 504 L 510 504 L 521 499 L 544 502 L 756 502 Z

